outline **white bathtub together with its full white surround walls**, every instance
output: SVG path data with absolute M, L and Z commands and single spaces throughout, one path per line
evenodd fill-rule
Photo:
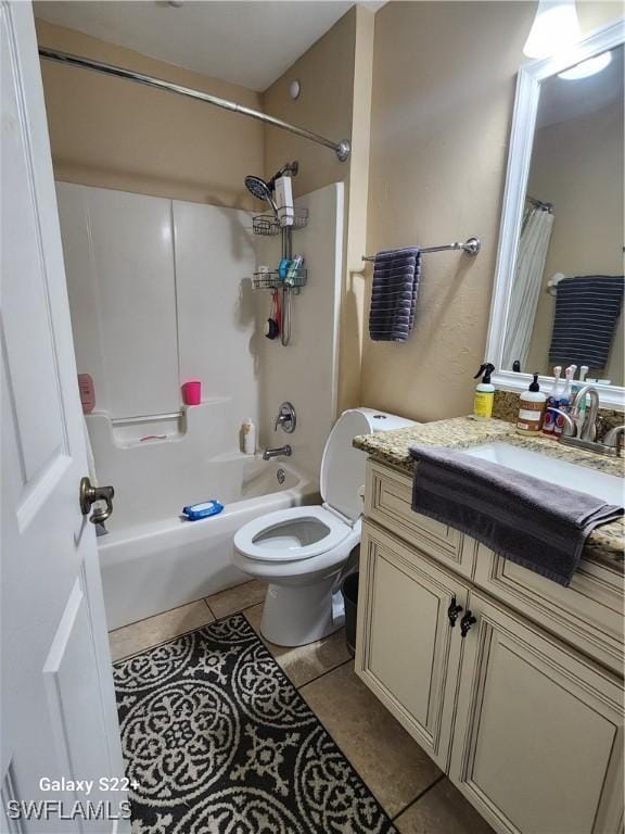
M 279 239 L 257 257 L 250 213 L 63 182 L 58 200 L 78 372 L 94 383 L 98 480 L 115 488 L 99 545 L 118 628 L 244 581 L 234 532 L 317 500 L 335 418 L 343 186 L 298 200 L 309 220 L 293 249 L 309 282 L 293 299 L 288 348 L 264 338 L 269 295 L 251 282 L 258 264 L 278 265 Z M 181 408 L 190 379 L 203 402 Z M 263 445 L 283 444 L 273 419 L 284 400 L 297 410 L 289 465 L 243 456 L 246 418 Z M 180 519 L 209 498 L 222 514 Z

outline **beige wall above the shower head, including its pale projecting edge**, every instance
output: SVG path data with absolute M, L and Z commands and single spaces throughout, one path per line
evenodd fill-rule
M 267 128 L 265 143 L 267 176 L 289 160 L 299 162 L 299 174 L 294 180 L 296 194 L 330 182 L 345 184 L 347 223 L 339 410 L 360 404 L 363 279 L 352 270 L 360 269 L 360 255 L 366 248 L 373 26 L 372 12 L 353 8 L 263 97 L 265 112 L 335 141 L 352 141 L 350 157 L 344 163 L 327 148 L 271 127 Z M 289 96 L 289 84 L 294 78 L 302 84 L 302 93 L 296 100 Z

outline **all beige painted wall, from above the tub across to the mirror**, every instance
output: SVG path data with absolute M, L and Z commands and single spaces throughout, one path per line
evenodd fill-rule
M 621 10 L 621 3 L 577 7 L 585 29 Z M 484 358 L 514 78 L 535 8 L 535 0 L 391 2 L 375 15 L 373 40 L 373 15 L 358 7 L 263 96 L 39 21 L 42 45 L 353 141 L 349 162 L 340 163 L 326 148 L 251 119 L 43 62 L 56 176 L 245 207 L 258 203 L 246 195 L 243 176 L 270 175 L 288 160 L 302 166 L 296 193 L 344 181 L 340 408 L 361 403 L 418 419 L 464 414 Z M 303 88 L 296 101 L 288 94 L 294 77 Z M 469 235 L 483 240 L 475 261 L 424 256 L 411 340 L 370 342 L 362 332 L 370 273 L 365 281 L 360 254 Z

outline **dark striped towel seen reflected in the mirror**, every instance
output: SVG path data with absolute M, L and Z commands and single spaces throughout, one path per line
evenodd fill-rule
M 558 283 L 550 362 L 602 369 L 623 304 L 623 276 L 587 275 Z

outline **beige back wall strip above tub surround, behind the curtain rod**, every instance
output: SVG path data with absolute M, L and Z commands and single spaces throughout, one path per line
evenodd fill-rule
M 37 21 L 39 43 L 260 106 L 259 93 L 88 35 Z M 263 174 L 260 123 L 197 101 L 41 62 L 56 179 L 252 207 L 246 174 Z

